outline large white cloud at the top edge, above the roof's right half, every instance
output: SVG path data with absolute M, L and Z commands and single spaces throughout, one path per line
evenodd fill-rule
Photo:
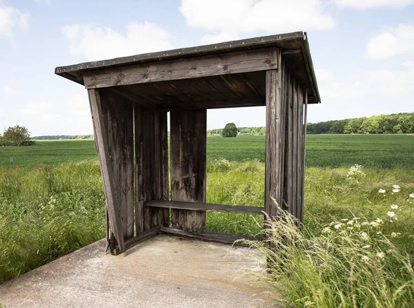
M 202 43 L 238 39 L 264 31 L 326 30 L 335 21 L 320 0 L 182 0 L 180 12 L 188 26 L 208 30 Z

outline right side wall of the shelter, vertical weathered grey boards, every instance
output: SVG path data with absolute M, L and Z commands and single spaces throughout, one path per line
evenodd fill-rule
M 265 209 L 284 209 L 303 221 L 306 89 L 286 68 L 266 71 Z M 307 106 L 307 105 L 306 105 Z

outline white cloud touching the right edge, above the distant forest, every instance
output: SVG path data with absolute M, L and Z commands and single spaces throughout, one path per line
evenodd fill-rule
M 366 46 L 368 59 L 388 59 L 397 55 L 414 54 L 414 26 L 400 23 L 375 35 Z

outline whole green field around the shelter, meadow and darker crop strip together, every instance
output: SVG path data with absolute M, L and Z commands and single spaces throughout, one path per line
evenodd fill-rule
M 208 138 L 207 202 L 263 206 L 264 137 Z M 306 227 L 353 215 L 386 219 L 398 204 L 395 244 L 414 255 L 414 136 L 309 135 Z M 226 160 L 218 160 L 224 158 Z M 228 160 L 228 161 L 227 161 Z M 366 176 L 349 181 L 349 166 Z M 393 184 L 401 186 L 392 194 Z M 378 189 L 386 189 L 380 195 Z M 411 200 L 411 203 L 410 203 Z M 259 232 L 262 216 L 208 213 L 206 229 Z M 105 235 L 105 200 L 94 142 L 41 141 L 0 148 L 0 283 Z

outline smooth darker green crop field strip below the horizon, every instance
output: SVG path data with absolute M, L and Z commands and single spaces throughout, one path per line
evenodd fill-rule
M 414 135 L 308 135 L 306 166 L 414 169 Z M 265 137 L 208 137 L 207 158 L 264 162 Z M 36 146 L 0 147 L 0 167 L 15 169 L 96 160 L 93 140 L 38 141 Z

